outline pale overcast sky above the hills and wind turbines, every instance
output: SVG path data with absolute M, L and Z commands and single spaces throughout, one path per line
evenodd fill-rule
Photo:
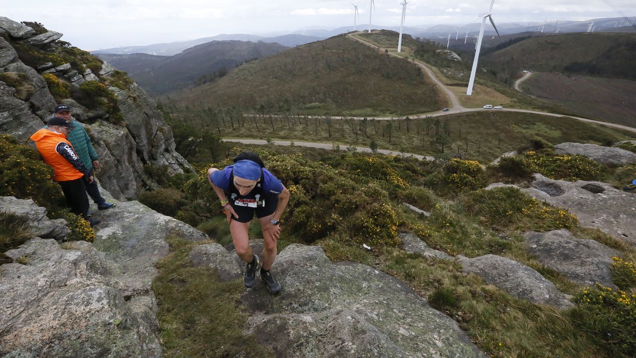
M 0 16 L 37 21 L 64 33 L 65 41 L 85 50 L 148 45 L 217 34 L 293 32 L 305 27 L 368 24 L 370 0 L 3 0 Z M 371 20 L 399 25 L 403 0 L 375 0 Z M 412 0 L 405 25 L 476 22 L 490 0 Z M 636 0 L 495 0 L 493 18 L 504 22 L 588 20 L 636 16 Z

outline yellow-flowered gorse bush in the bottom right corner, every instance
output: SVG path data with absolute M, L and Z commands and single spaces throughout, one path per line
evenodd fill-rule
M 597 347 L 613 357 L 636 356 L 636 295 L 598 283 L 572 299 L 571 317 Z

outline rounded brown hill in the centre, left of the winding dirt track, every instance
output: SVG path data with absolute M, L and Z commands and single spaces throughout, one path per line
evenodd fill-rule
M 179 105 L 331 115 L 422 113 L 445 107 L 419 68 L 335 36 L 251 62 L 218 81 L 169 94 Z

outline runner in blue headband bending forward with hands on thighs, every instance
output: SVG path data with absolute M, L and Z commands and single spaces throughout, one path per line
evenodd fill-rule
M 265 164 L 254 152 L 241 152 L 234 158 L 234 164 L 223 170 L 208 169 L 207 179 L 225 210 L 237 255 L 247 262 L 243 278 L 245 287 L 254 285 L 259 265 L 248 236 L 249 223 L 256 213 L 265 241 L 261 280 L 272 294 L 276 294 L 280 291 L 280 283 L 270 269 L 277 254 L 280 217 L 287 208 L 289 190 L 265 169 Z

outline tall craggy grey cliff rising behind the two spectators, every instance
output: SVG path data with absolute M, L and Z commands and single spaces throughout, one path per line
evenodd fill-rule
M 31 27 L 2 17 L 0 29 L 4 29 L 12 41 L 39 46 L 40 49 L 42 45 L 52 44 L 62 36 L 53 31 L 36 35 Z M 46 46 L 47 51 L 50 47 Z M 87 81 L 104 82 L 115 75 L 115 69 L 106 63 L 99 73 L 101 78 L 90 69 L 79 73 L 68 63 L 53 66 L 47 62 L 34 67 L 22 63 L 11 43 L 0 37 L 0 72 L 24 74 L 28 85 L 32 87 L 23 100 L 15 96 L 13 87 L 0 82 L 0 132 L 24 141 L 28 141 L 31 134 L 43 127 L 55 107 L 55 100 L 41 75 L 52 73 L 61 82 L 69 83 L 72 89 L 77 89 Z M 98 175 L 104 188 L 119 200 L 134 198 L 144 188 L 155 188 L 156 183 L 144 173 L 146 164 L 163 166 L 169 175 L 183 173 L 184 170 L 194 172 L 190 164 L 176 152 L 170 127 L 139 85 L 133 83 L 128 89 L 108 88 L 118 100 L 125 126 L 111 124 L 104 110 L 89 110 L 71 98 L 62 101 L 71 108 L 74 118 L 84 123 L 92 136 L 102 162 Z

